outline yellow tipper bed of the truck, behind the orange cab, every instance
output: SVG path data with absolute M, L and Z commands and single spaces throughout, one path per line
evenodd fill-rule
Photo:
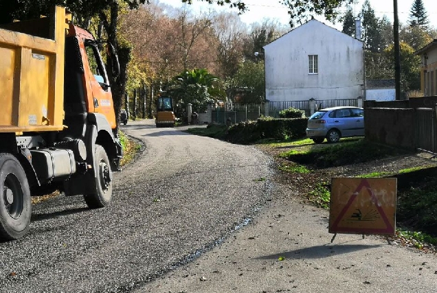
M 53 19 L 11 23 L 4 26 L 7 29 L 0 28 L 0 132 L 63 129 L 68 16 L 65 8 L 55 10 Z M 35 36 L 41 32 L 47 32 L 47 38 Z

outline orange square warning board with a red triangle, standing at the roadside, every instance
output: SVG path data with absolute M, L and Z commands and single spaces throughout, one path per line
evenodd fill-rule
M 333 178 L 329 233 L 394 235 L 396 178 Z

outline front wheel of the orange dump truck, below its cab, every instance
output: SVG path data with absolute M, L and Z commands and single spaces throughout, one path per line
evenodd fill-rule
M 94 150 L 94 168 L 96 168 L 96 192 L 84 196 L 90 209 L 106 207 L 112 199 L 111 165 L 102 145 L 96 145 Z

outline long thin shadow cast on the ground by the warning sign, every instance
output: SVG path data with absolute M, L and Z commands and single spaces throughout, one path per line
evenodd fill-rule
M 362 245 L 362 244 L 346 244 L 346 245 L 319 245 L 297 250 L 286 251 L 274 255 L 266 255 L 265 257 L 257 257 L 257 259 L 319 259 L 330 257 L 331 255 L 343 255 L 345 253 L 354 253 L 358 250 L 377 248 L 381 245 Z

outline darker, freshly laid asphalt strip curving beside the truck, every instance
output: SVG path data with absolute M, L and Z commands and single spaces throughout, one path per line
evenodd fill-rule
M 34 204 L 30 231 L 0 243 L 0 292 L 128 292 L 220 244 L 269 199 L 271 161 L 250 146 L 153 121 L 122 126 L 146 146 L 114 176 L 111 206 Z

